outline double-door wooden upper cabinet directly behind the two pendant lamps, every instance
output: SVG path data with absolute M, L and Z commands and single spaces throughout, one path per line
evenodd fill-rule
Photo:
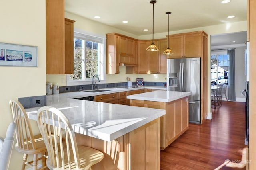
M 148 51 L 148 73 L 166 73 L 166 55 L 164 51 L 167 48 L 167 40 L 154 41 L 159 51 Z

